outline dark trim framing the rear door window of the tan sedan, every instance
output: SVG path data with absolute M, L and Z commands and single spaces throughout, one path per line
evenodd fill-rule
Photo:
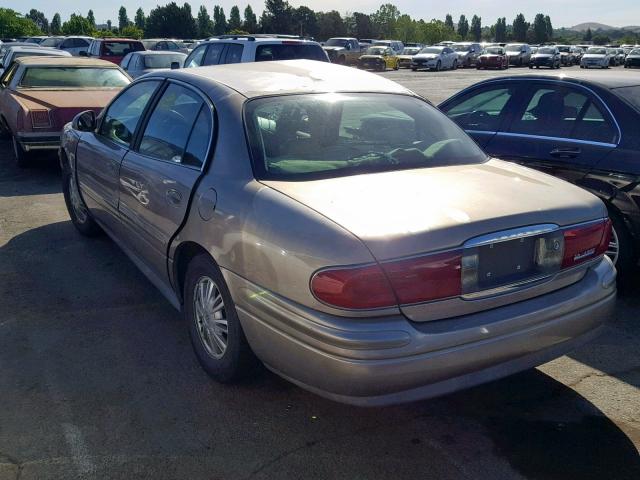
M 147 124 L 149 123 L 149 119 L 151 118 L 151 114 L 155 110 L 155 107 L 157 106 L 157 104 L 160 102 L 160 99 L 162 98 L 162 94 L 166 91 L 167 88 L 169 88 L 169 85 L 171 85 L 171 84 L 178 85 L 180 87 L 183 87 L 183 88 L 186 88 L 186 89 L 192 91 L 193 93 L 198 95 L 202 100 L 202 106 L 200 107 L 200 110 L 198 110 L 198 114 L 195 117 L 195 121 L 194 121 L 193 125 L 191 125 L 191 130 L 189 131 L 189 135 L 187 135 L 187 141 L 186 141 L 185 146 L 184 146 L 185 150 L 189 146 L 189 141 L 191 140 L 191 134 L 193 133 L 193 130 L 195 128 L 195 122 L 197 121 L 198 116 L 202 112 L 202 108 L 206 107 L 209 110 L 209 115 L 211 117 L 211 123 L 213 125 L 213 131 L 209 135 L 209 146 L 207 147 L 207 154 L 205 155 L 204 161 L 202 162 L 202 165 L 200 166 L 200 168 L 194 167 L 194 166 L 191 166 L 191 165 L 186 165 L 184 163 L 174 163 L 174 162 L 170 162 L 170 161 L 167 161 L 167 160 L 162 160 L 162 159 L 159 159 L 159 158 L 151 157 L 149 155 L 145 155 L 144 153 L 140 153 L 140 142 L 142 141 L 142 133 L 147 128 Z M 136 152 L 138 155 L 141 155 L 141 156 L 143 156 L 145 158 L 149 158 L 149 159 L 153 160 L 154 162 L 165 162 L 165 163 L 169 163 L 171 165 L 178 165 L 178 166 L 183 167 L 183 168 L 190 168 L 191 170 L 199 170 L 200 172 L 203 172 L 204 169 L 206 168 L 206 166 L 209 163 L 209 159 L 211 158 L 213 151 L 215 150 L 215 143 L 216 143 L 216 140 L 217 140 L 217 134 L 218 134 L 218 122 L 217 122 L 216 109 L 215 109 L 211 99 L 209 99 L 209 97 L 207 97 L 204 93 L 202 93 L 200 90 L 198 90 L 194 86 L 189 85 L 188 83 L 181 82 L 179 80 L 171 79 L 171 80 L 166 80 L 165 82 L 163 82 L 161 87 L 159 87 L 154 92 L 154 97 L 147 104 L 147 107 L 145 109 L 144 114 L 141 117 L 141 121 L 138 124 L 138 128 L 136 129 L 136 133 L 135 133 L 135 135 L 133 137 L 133 141 L 131 142 L 131 146 L 129 147 L 129 149 L 131 151 Z

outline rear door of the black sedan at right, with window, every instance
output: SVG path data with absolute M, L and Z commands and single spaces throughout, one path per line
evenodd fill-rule
M 490 155 L 574 183 L 619 140 L 616 123 L 599 97 L 562 82 L 530 82 L 503 126 L 486 147 Z

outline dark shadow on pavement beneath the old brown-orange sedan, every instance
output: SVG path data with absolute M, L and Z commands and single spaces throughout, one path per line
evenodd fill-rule
M 0 141 L 0 198 L 59 193 L 61 182 L 55 152 L 38 152 L 28 168 L 18 168 L 11 143 Z

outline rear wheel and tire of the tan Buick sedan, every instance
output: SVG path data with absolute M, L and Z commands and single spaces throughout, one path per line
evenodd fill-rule
M 209 376 L 232 383 L 254 373 L 260 362 L 247 342 L 222 272 L 208 255 L 189 263 L 183 298 L 191 344 Z

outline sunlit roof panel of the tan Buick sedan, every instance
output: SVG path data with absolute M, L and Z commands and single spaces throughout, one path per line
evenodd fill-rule
M 159 75 L 193 83 L 202 90 L 217 82 L 247 98 L 330 92 L 413 94 L 379 75 L 315 60 L 234 63 L 168 70 Z

